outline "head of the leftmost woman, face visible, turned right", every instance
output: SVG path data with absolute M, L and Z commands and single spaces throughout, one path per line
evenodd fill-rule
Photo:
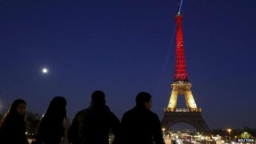
M 21 116 L 24 116 L 26 113 L 26 106 L 27 106 L 27 103 L 25 102 L 25 100 L 22 100 L 22 99 L 14 100 L 11 108 L 8 111 L 8 115 L 19 114 Z

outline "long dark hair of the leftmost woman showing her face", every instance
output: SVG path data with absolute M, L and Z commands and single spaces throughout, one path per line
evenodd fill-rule
M 20 119 L 24 120 L 25 114 L 24 115 L 20 115 L 17 112 L 17 107 L 19 106 L 19 104 L 26 104 L 27 105 L 27 103 L 23 99 L 14 100 L 14 102 L 12 103 L 12 106 L 8 109 L 7 113 L 4 115 L 0 127 L 2 127 L 2 125 L 4 125 L 4 123 L 6 122 L 6 119 L 17 119 L 17 118 L 20 118 Z

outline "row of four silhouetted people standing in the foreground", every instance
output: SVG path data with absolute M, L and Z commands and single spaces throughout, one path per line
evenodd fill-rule
M 51 100 L 40 118 L 33 144 L 109 144 L 110 131 L 115 136 L 113 144 L 164 144 L 159 118 L 150 111 L 149 93 L 138 93 L 136 106 L 124 113 L 121 122 L 106 106 L 105 94 L 99 90 L 92 93 L 90 106 L 79 111 L 71 125 L 66 105 L 64 97 Z M 15 100 L 0 125 L 1 144 L 29 144 L 25 115 L 25 100 Z

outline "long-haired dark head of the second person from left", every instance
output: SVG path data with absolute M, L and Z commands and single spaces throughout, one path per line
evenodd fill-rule
M 56 118 L 57 120 L 63 120 L 63 118 L 67 116 L 66 105 L 67 101 L 64 97 L 54 97 L 51 100 L 44 116 L 49 118 Z

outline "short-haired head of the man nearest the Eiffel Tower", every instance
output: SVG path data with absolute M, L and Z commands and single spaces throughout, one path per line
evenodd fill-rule
M 136 97 L 136 104 L 137 104 L 137 106 L 142 106 L 147 109 L 151 109 L 152 108 L 151 95 L 146 92 L 138 93 L 138 95 Z

